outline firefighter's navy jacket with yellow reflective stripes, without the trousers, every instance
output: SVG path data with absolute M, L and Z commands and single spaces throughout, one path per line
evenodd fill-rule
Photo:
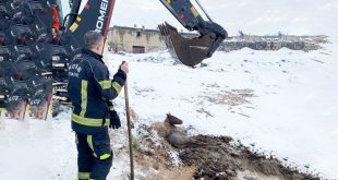
M 69 65 L 68 92 L 73 105 L 74 131 L 93 134 L 109 125 L 107 101 L 114 99 L 124 85 L 126 75 L 119 70 L 113 80 L 102 57 L 82 49 Z

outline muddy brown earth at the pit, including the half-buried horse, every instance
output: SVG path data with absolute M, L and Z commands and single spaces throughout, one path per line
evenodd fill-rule
M 286 167 L 273 156 L 253 153 L 229 136 L 189 136 L 174 119 L 141 125 L 136 161 L 155 169 L 140 179 L 203 180 L 317 180 L 315 175 Z M 177 161 L 180 163 L 177 163 Z

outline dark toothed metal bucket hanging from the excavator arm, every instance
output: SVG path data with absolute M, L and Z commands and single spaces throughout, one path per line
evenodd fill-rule
M 215 37 L 213 34 L 202 37 L 189 38 L 179 34 L 177 28 L 168 23 L 158 26 L 166 45 L 176 59 L 184 65 L 194 67 L 208 58 L 209 47 Z

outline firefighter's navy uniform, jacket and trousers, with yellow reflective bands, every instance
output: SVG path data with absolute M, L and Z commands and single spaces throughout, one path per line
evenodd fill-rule
M 101 58 L 82 49 L 69 65 L 68 91 L 73 105 L 79 179 L 105 180 L 112 164 L 107 101 L 119 95 L 126 74 L 119 70 L 113 80 L 109 80 Z

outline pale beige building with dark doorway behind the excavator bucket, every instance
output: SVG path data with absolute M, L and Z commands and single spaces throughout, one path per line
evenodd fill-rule
M 180 34 L 184 37 L 197 36 L 190 33 Z M 114 52 L 145 53 L 167 48 L 158 29 L 113 26 L 109 28 L 107 38 L 108 49 Z

